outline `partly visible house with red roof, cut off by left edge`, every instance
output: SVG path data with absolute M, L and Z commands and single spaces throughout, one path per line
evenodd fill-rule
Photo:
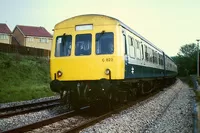
M 4 23 L 0 23 L 0 43 L 11 44 L 11 31 Z

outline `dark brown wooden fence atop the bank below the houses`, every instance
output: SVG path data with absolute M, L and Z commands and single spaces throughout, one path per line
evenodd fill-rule
M 20 45 L 10 45 L 0 43 L 0 52 L 19 53 L 22 55 L 32 55 L 38 57 L 50 57 L 51 51 L 39 48 L 25 47 Z

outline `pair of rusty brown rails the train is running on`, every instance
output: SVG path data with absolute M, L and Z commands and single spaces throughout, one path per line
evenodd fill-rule
M 121 106 L 116 106 L 112 111 L 104 113 L 104 114 L 102 114 L 102 115 L 100 115 L 98 117 L 92 117 L 92 119 L 86 120 L 86 122 L 84 122 L 84 123 L 82 123 L 82 124 L 80 124 L 78 126 L 71 126 L 72 128 L 70 128 L 69 130 L 65 130 L 64 132 L 66 132 L 66 133 L 78 132 L 78 131 L 86 128 L 86 127 L 92 126 L 92 125 L 100 122 L 101 120 L 103 120 L 105 118 L 110 117 L 112 114 L 119 113 L 120 111 L 125 110 L 125 109 L 127 109 L 127 108 L 129 108 L 129 107 L 131 107 L 133 105 L 136 105 L 136 104 L 139 103 L 138 105 L 141 106 L 141 105 L 145 104 L 146 102 L 154 99 L 155 97 L 153 98 L 153 96 L 160 95 L 163 92 L 164 91 L 155 91 L 153 93 L 150 93 L 148 95 L 140 97 L 136 101 L 129 102 L 126 105 L 123 105 L 122 107 Z M 41 121 L 38 121 L 38 122 L 35 122 L 35 123 L 32 123 L 32 124 L 28 124 L 28 125 L 24 125 L 24 126 L 21 126 L 21 127 L 9 129 L 9 130 L 4 131 L 4 132 L 5 133 L 27 132 L 27 131 L 31 131 L 31 130 L 34 130 L 34 129 L 42 128 L 42 127 L 44 127 L 46 125 L 53 124 L 53 123 L 61 121 L 63 119 L 80 115 L 82 111 L 87 110 L 88 108 L 89 108 L 89 106 L 81 108 L 80 111 L 71 110 L 69 112 L 66 112 L 66 113 L 63 113 L 63 114 L 60 114 L 60 115 L 45 119 L 45 120 L 41 120 Z

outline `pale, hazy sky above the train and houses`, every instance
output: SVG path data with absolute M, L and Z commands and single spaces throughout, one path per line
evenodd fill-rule
M 73 16 L 117 18 L 169 56 L 200 39 L 200 0 L 0 0 L 0 23 L 54 26 Z

